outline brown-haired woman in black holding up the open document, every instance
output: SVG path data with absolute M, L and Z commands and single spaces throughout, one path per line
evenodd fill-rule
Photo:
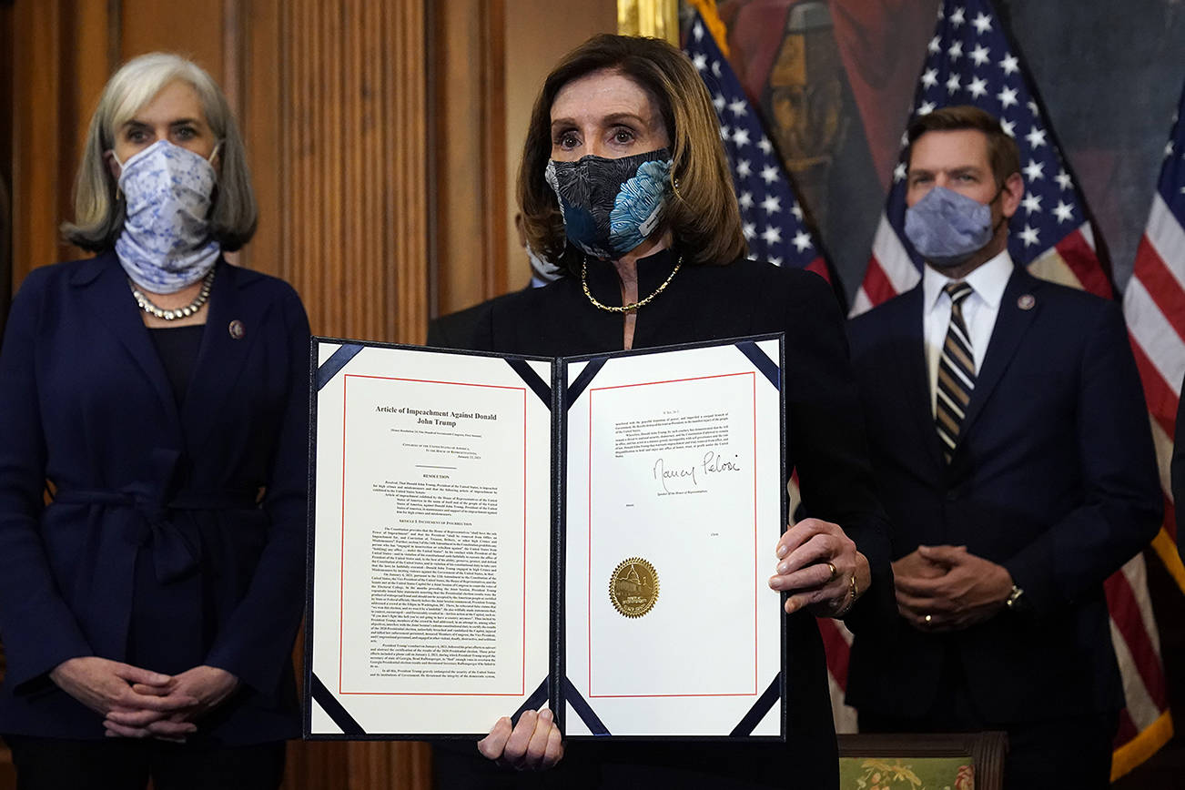
M 499 720 L 479 751 L 502 766 L 550 769 L 532 782 L 834 786 L 814 618 L 858 629 L 895 610 L 843 316 L 815 275 L 744 258 L 718 129 L 711 97 L 673 46 L 600 36 L 569 53 L 534 104 L 518 193 L 531 248 L 571 276 L 500 302 L 475 346 L 558 357 L 786 333 L 787 458 L 814 516 L 768 555 L 769 586 L 788 593 L 787 743 L 574 743 L 565 754 L 549 712 L 529 712 L 513 730 Z M 438 760 L 440 785 L 461 784 L 463 767 L 453 754 Z M 469 772 L 482 785 L 481 769 Z

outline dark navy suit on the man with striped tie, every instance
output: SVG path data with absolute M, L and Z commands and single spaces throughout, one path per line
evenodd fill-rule
M 922 715 L 952 660 L 993 721 L 1119 709 L 1102 583 L 1155 534 L 1161 513 L 1119 306 L 1018 268 L 949 467 L 931 416 L 921 285 L 848 334 L 893 557 L 966 545 L 1004 565 L 1029 606 L 952 635 L 899 619 L 896 632 L 858 635 L 848 702 Z

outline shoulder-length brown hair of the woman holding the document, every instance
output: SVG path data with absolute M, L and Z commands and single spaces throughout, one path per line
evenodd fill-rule
M 544 179 L 551 156 L 551 105 L 564 85 L 604 69 L 628 77 L 658 102 L 674 160 L 665 221 L 684 261 L 726 264 L 742 257 L 748 245 L 720 127 L 696 68 L 660 39 L 610 34 L 594 36 L 564 56 L 534 99 L 518 178 L 519 210 L 531 249 L 579 270 L 579 256 L 564 237 L 556 194 Z

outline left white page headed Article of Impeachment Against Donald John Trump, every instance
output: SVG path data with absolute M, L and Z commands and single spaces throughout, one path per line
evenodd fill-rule
M 369 733 L 487 730 L 547 673 L 547 407 L 501 359 L 367 347 L 316 438 L 314 673 Z

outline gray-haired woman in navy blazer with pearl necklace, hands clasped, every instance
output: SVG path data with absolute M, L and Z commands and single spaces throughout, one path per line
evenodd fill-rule
M 256 206 L 218 85 L 135 58 L 0 351 L 0 732 L 21 788 L 274 788 L 299 733 L 308 321 L 228 264 Z

